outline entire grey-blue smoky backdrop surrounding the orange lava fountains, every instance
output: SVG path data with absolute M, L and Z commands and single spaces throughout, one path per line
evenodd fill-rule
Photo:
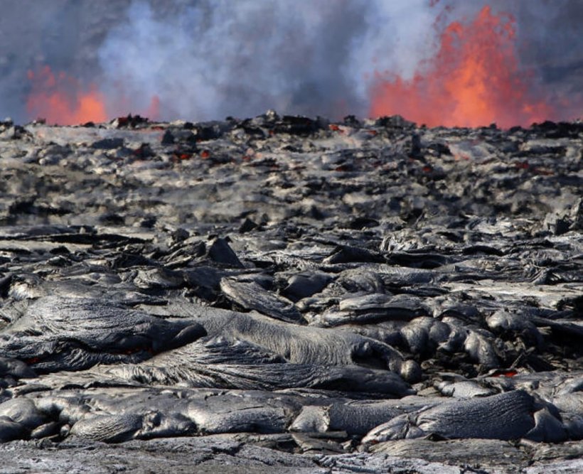
M 411 77 L 440 25 L 486 4 L 516 18 L 520 63 L 555 118 L 579 117 L 579 0 L 0 0 L 0 116 L 36 118 L 26 72 L 42 65 L 95 83 L 112 117 L 154 98 L 159 119 L 366 116 L 375 73 Z

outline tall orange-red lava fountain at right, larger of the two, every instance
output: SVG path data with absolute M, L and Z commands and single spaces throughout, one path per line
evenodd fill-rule
M 442 33 L 437 55 L 422 72 L 403 80 L 377 74 L 370 115 L 401 114 L 428 126 L 528 126 L 554 115 L 533 100 L 514 48 L 515 21 L 485 6 L 469 23 L 455 21 Z

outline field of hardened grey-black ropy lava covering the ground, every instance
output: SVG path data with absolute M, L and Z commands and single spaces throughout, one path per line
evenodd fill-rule
M 583 125 L 0 123 L 1 472 L 577 472 Z

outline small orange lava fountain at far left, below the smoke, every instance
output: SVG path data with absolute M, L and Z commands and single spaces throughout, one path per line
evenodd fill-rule
M 28 71 L 31 93 L 26 111 L 31 119 L 42 118 L 49 124 L 77 125 L 105 122 L 105 99 L 95 86 L 82 90 L 77 80 L 64 72 L 55 76 L 48 66 L 38 72 Z

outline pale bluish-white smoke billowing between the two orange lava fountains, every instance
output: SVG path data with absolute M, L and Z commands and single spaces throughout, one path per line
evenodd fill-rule
M 170 15 L 140 0 L 100 65 L 108 97 L 144 109 L 157 95 L 164 119 L 364 115 L 367 77 L 432 55 L 435 16 L 427 0 L 208 0 Z

